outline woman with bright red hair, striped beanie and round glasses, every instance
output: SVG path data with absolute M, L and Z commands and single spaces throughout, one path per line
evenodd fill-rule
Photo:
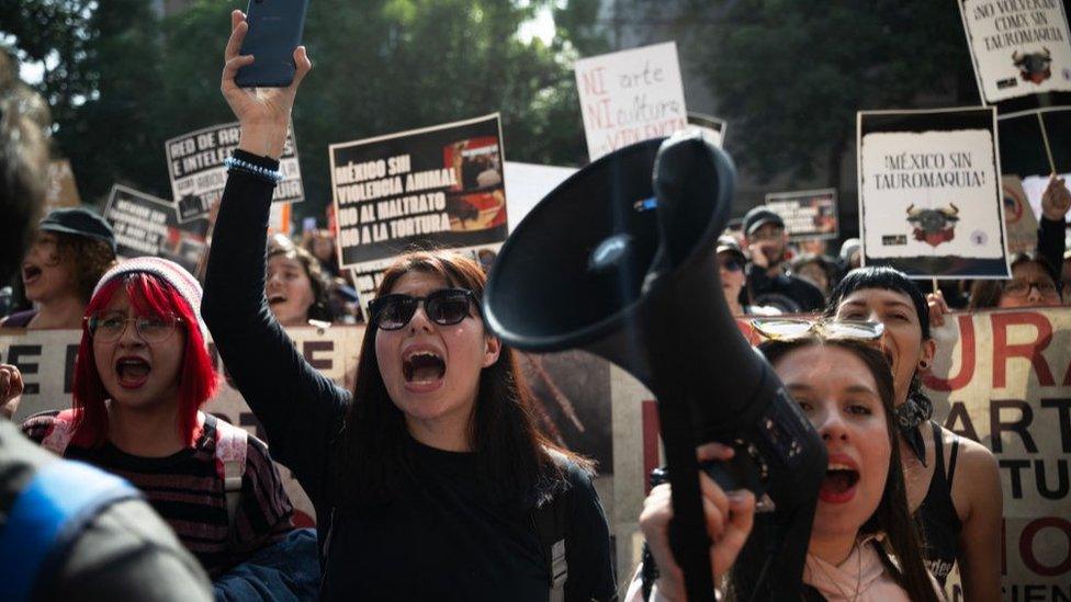
M 267 446 L 200 409 L 216 385 L 200 306 L 201 286 L 171 261 L 111 269 L 86 308 L 74 407 L 23 431 L 129 479 L 218 577 L 286 536 L 293 509 Z

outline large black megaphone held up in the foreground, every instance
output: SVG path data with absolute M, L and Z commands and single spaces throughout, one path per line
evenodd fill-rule
M 744 452 L 746 474 L 722 476 L 760 484 L 756 495 L 776 508 L 783 546 L 762 571 L 776 576 L 765 591 L 798 598 L 825 446 L 725 303 L 715 240 L 734 181 L 729 156 L 695 132 L 604 156 L 503 245 L 484 319 L 508 345 L 583 348 L 654 393 L 674 488 L 670 542 L 689 600 L 713 600 L 695 455 L 708 441 Z

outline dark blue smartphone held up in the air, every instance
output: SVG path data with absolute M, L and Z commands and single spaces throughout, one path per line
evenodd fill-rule
M 294 48 L 301 45 L 308 0 L 249 0 L 249 31 L 239 54 L 257 60 L 238 69 L 241 88 L 285 88 L 294 81 Z

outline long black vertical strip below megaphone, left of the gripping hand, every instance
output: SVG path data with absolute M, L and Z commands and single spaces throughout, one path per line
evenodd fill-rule
M 669 547 L 685 577 L 685 591 L 694 602 L 714 602 L 714 579 L 710 567 L 710 537 L 702 513 L 699 463 L 692 442 L 691 418 L 681 396 L 662 390 L 658 422 L 666 450 L 669 484 L 673 487 L 673 520 Z M 666 395 L 669 393 L 670 395 Z

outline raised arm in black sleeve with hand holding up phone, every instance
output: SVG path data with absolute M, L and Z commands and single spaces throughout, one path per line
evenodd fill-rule
M 255 60 L 238 55 L 247 30 L 245 16 L 234 11 L 221 88 L 241 123 L 235 158 L 275 170 L 294 94 L 312 64 L 305 48 L 298 47 L 297 72 L 289 88 L 238 88 L 235 73 Z M 213 232 L 201 313 L 238 390 L 264 425 L 272 455 L 294 472 L 319 507 L 328 445 L 349 394 L 308 365 L 268 307 L 264 255 L 273 190 L 272 181 L 253 169 L 230 170 Z

